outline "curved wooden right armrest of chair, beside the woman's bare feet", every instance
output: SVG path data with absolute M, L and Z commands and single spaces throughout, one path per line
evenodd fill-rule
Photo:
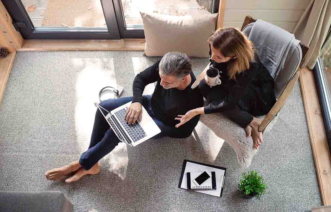
M 282 94 L 278 98 L 277 102 L 275 105 L 271 108 L 269 113 L 265 116 L 263 119 L 260 127 L 259 127 L 259 132 L 263 132 L 264 129 L 268 126 L 268 124 L 271 122 L 271 120 L 277 115 L 277 113 L 280 111 L 280 109 L 283 107 L 285 104 L 286 100 L 288 97 L 291 95 L 295 83 L 299 79 L 299 72 L 295 73 L 295 75 L 292 77 L 292 79 L 287 83 L 285 89 L 283 90 Z

